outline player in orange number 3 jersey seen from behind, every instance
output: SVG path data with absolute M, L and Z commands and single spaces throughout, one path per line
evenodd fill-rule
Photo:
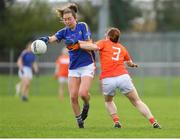
M 148 106 L 138 96 L 124 62 L 129 67 L 138 67 L 138 65 L 132 62 L 126 48 L 118 43 L 119 36 L 119 29 L 110 28 L 106 32 L 106 39 L 100 40 L 96 44 L 79 41 L 82 49 L 98 50 L 100 53 L 102 91 L 105 98 L 105 106 L 114 121 L 114 127 L 122 127 L 113 101 L 116 89 L 120 89 L 140 113 L 149 120 L 153 128 L 161 128 Z

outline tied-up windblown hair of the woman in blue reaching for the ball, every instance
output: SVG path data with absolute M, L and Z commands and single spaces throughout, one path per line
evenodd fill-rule
M 63 17 L 64 14 L 72 13 L 73 17 L 76 19 L 76 17 L 77 17 L 76 13 L 78 11 L 78 5 L 76 3 L 70 3 L 63 8 L 57 9 L 56 11 L 58 13 L 58 16 L 61 18 Z

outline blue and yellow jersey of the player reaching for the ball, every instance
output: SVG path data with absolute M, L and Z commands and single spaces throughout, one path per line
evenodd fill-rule
M 74 30 L 65 27 L 55 34 L 58 41 L 74 39 L 81 41 L 89 41 L 92 39 L 90 29 L 84 22 L 78 22 Z M 87 66 L 95 61 L 95 54 L 93 51 L 87 51 L 79 48 L 78 44 L 67 45 L 69 49 L 70 64 L 69 69 L 76 69 Z

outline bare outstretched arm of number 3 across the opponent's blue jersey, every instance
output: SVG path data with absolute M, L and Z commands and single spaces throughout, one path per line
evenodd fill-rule
M 79 46 L 82 49 L 85 50 L 99 50 L 99 47 L 92 43 L 92 42 L 87 42 L 87 41 L 78 41 L 79 42 Z

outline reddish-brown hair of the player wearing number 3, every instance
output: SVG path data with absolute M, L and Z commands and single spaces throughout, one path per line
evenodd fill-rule
M 110 28 L 107 31 L 107 35 L 108 35 L 109 39 L 114 43 L 118 42 L 120 34 L 121 34 L 121 32 L 118 28 Z

